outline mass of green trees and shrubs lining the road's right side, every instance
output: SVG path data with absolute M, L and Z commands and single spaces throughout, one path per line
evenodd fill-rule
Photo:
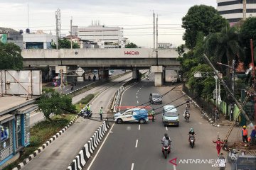
M 235 69 L 245 70 L 251 62 L 250 38 L 256 43 L 256 18 L 250 17 L 230 27 L 228 21 L 211 6 L 192 6 L 182 19 L 185 29 L 185 44 L 178 47 L 178 60 L 181 62 L 181 74 L 186 79 L 186 86 L 197 96 L 210 101 L 213 98 L 215 79 L 202 77 L 200 81 L 193 77 L 195 72 L 213 72 L 203 59 L 206 54 L 214 67 L 223 74 L 226 84 L 231 86 L 230 69 L 217 64 L 232 65 Z M 235 95 L 240 98 L 240 90 L 251 85 L 251 74 L 237 73 L 235 77 Z M 228 94 L 221 92 L 223 101 L 228 102 Z

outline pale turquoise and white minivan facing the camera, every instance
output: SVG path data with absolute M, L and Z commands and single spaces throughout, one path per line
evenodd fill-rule
M 162 121 L 166 125 L 179 125 L 178 111 L 173 105 L 163 107 Z

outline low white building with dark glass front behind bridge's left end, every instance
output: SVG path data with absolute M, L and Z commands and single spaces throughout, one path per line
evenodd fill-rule
M 38 30 L 36 33 L 26 32 L 23 34 L 24 49 L 48 49 L 51 48 L 50 42 L 56 42 L 56 35 L 43 33 L 43 30 Z

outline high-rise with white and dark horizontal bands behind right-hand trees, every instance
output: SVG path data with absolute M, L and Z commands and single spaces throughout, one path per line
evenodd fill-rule
M 217 0 L 217 10 L 230 24 L 242 20 L 242 0 Z M 256 0 L 246 0 L 246 18 L 256 16 Z

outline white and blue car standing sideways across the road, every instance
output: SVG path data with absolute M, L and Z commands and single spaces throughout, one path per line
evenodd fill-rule
M 114 114 L 114 121 L 116 123 L 139 122 L 142 124 L 149 121 L 149 113 L 144 108 L 131 108 L 123 113 Z

